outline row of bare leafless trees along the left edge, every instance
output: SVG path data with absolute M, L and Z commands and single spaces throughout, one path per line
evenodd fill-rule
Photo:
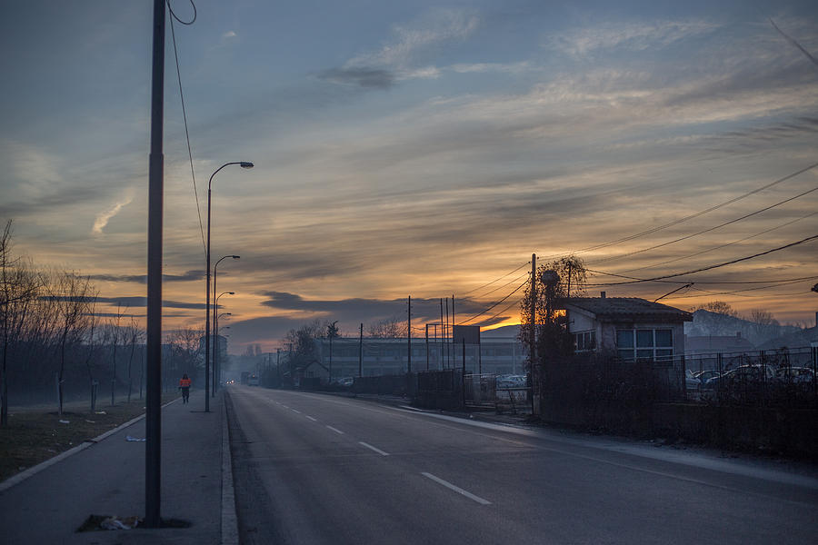
M 59 414 L 65 401 L 89 397 L 94 410 L 100 384 L 110 384 L 112 405 L 117 394 L 130 401 L 138 390 L 142 398 L 141 316 L 123 306 L 98 312 L 97 294 L 87 276 L 43 269 L 13 253 L 12 222 L 5 224 L 0 236 L 0 425 L 8 424 L 10 396 L 16 404 L 55 400 Z M 177 372 L 195 377 L 200 338 L 196 328 L 167 335 L 165 389 L 174 387 Z

